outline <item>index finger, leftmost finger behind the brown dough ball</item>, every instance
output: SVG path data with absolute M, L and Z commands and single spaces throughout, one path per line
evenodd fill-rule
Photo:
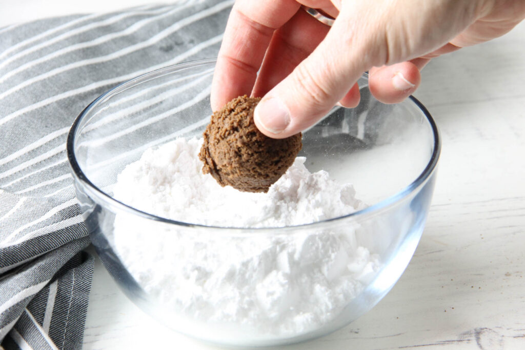
M 295 0 L 238 0 L 228 18 L 212 82 L 212 110 L 250 95 L 275 29 L 297 12 Z

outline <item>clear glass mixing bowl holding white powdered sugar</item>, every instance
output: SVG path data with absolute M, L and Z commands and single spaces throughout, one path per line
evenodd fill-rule
M 330 220 L 250 229 L 228 227 L 225 218 L 209 227 L 114 199 L 118 174 L 146 149 L 202 135 L 214 67 L 201 60 L 152 71 L 106 92 L 75 120 L 67 152 L 92 243 L 132 302 L 186 335 L 269 346 L 331 333 L 379 302 L 412 258 L 434 188 L 435 122 L 413 97 L 381 104 L 363 75 L 358 107 L 334 108 L 303 132 L 306 167 L 352 183 L 367 204 Z M 249 256 L 239 253 L 246 246 Z M 268 246 L 286 253 L 271 255 Z M 206 288 L 217 279 L 220 287 Z

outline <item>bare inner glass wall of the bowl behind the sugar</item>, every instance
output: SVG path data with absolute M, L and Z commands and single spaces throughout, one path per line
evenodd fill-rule
M 214 61 L 168 67 L 133 79 L 94 101 L 77 121 L 72 157 L 102 196 L 144 150 L 177 137 L 201 137 L 209 118 Z M 410 187 L 436 158 L 437 131 L 414 99 L 375 100 L 364 76 L 360 105 L 334 108 L 303 132 L 299 156 L 311 171 L 352 183 L 356 197 L 378 204 Z M 422 109 L 423 108 L 423 109 Z M 107 199 L 109 199 L 107 198 Z

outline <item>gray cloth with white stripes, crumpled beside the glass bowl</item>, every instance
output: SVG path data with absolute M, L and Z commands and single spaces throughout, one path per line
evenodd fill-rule
M 80 111 L 147 71 L 215 57 L 233 0 L 0 28 L 0 348 L 82 346 L 93 257 L 65 142 Z

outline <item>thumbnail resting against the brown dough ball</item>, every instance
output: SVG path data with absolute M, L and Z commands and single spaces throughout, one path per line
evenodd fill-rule
M 280 133 L 290 123 L 288 108 L 277 97 L 262 99 L 255 107 L 254 118 L 271 133 Z

